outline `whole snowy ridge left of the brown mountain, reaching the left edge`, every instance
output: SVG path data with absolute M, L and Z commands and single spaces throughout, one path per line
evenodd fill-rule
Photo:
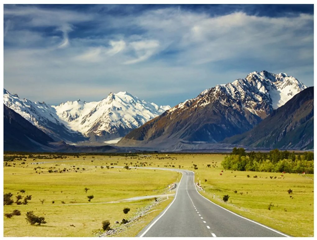
M 110 140 L 157 117 L 169 106 L 141 101 L 127 92 L 110 93 L 100 102 L 68 101 L 58 106 L 20 99 L 3 89 L 4 104 L 54 140 L 69 143 Z

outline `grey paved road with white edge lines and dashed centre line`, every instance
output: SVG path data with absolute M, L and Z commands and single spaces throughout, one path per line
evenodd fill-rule
M 174 200 L 138 237 L 288 237 L 211 203 L 198 193 L 192 171 L 177 171 L 183 177 Z

